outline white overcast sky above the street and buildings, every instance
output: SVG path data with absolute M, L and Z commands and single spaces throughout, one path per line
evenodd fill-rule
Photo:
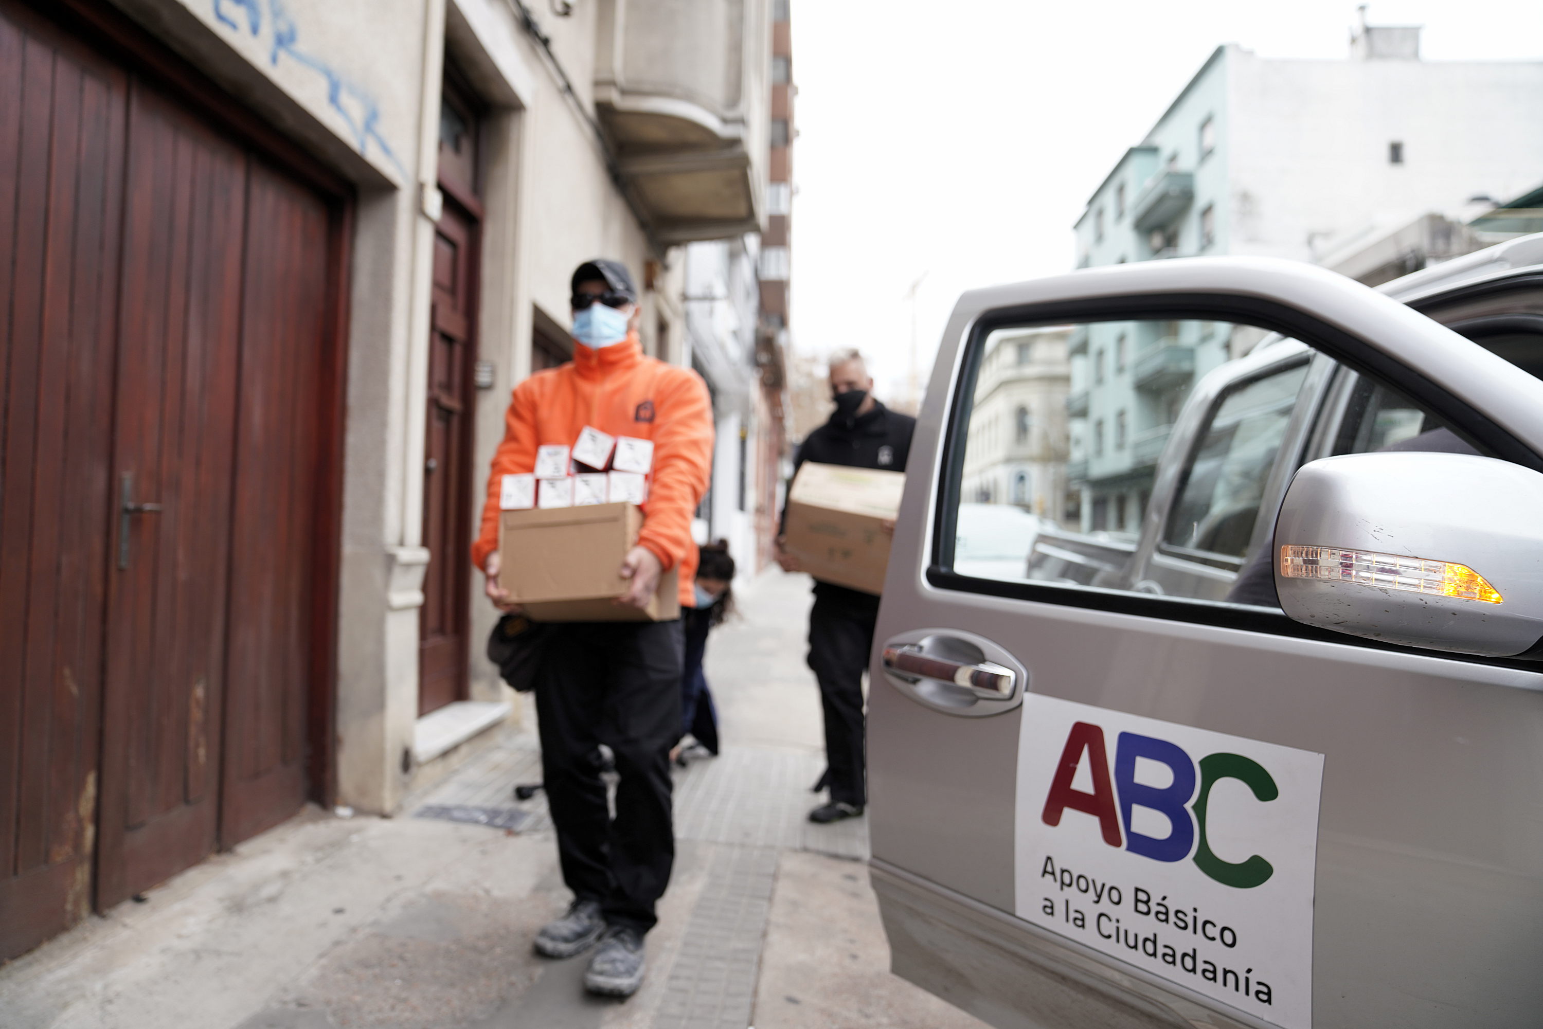
M 926 375 L 961 290 L 1072 267 L 1088 196 L 1217 45 L 1342 59 L 1356 22 L 1342 0 L 792 5 L 793 347 L 863 349 L 881 396 L 909 378 L 912 282 Z M 1543 59 L 1543 0 L 1369 20 L 1424 25 L 1427 60 Z

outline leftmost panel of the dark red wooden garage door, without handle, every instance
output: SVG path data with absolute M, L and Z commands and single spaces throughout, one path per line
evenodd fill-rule
M 0 8 L 0 958 L 91 904 L 127 89 Z

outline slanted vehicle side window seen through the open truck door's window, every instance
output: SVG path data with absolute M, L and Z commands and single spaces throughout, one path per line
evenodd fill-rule
M 1163 528 L 1170 554 L 1241 568 L 1307 359 L 1236 383 L 1211 404 Z

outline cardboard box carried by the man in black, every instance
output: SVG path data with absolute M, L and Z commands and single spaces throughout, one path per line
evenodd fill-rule
M 904 472 L 805 461 L 787 494 L 785 546 L 815 579 L 880 594 Z

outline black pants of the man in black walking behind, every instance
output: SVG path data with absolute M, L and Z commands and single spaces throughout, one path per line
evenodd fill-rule
M 867 804 L 863 671 L 873 649 L 878 597 L 832 583 L 815 583 L 809 612 L 809 666 L 826 710 L 826 762 L 830 799 Z

